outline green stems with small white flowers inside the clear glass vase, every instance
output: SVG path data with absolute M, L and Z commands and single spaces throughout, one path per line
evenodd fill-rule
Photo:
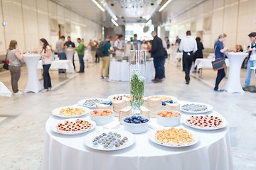
M 145 77 L 139 75 L 139 69 L 132 69 L 130 81 L 131 106 L 139 108 L 143 105 L 143 97 L 145 91 Z

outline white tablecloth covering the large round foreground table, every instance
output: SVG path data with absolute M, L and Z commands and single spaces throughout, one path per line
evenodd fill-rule
M 220 116 L 211 111 L 210 115 Z M 181 119 L 189 115 L 181 113 Z M 82 116 L 90 120 L 89 115 Z M 117 118 L 115 118 L 117 120 Z M 224 119 L 224 118 L 223 118 Z M 61 118 L 52 116 L 46 123 L 46 136 L 43 154 L 43 169 L 161 169 L 161 170 L 210 170 L 233 169 L 228 126 L 213 131 L 195 130 L 181 123 L 178 128 L 193 130 L 199 135 L 200 141 L 190 147 L 169 148 L 156 145 L 149 141 L 152 129 L 135 135 L 134 145 L 117 151 L 98 151 L 85 146 L 85 136 L 90 132 L 101 132 L 100 125 L 82 135 L 60 135 L 50 130 L 50 126 L 58 123 Z M 156 121 L 151 118 L 151 121 Z M 122 125 L 119 129 L 123 129 Z

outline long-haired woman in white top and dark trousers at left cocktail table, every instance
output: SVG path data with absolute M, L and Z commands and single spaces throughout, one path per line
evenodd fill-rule
M 44 88 L 43 92 L 46 92 L 51 89 L 49 69 L 52 61 L 53 50 L 51 49 L 47 40 L 44 38 L 40 39 L 40 44 L 43 47 L 42 48 L 43 88 Z

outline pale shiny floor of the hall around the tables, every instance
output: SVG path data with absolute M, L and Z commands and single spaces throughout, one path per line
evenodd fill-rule
M 38 75 L 41 77 L 40 72 Z M 68 74 L 68 79 L 50 71 L 53 91 L 11 98 L 0 96 L 0 169 L 41 169 L 45 124 L 54 108 L 77 103 L 82 98 L 129 93 L 128 83 L 102 80 L 99 75 L 100 64 L 88 64 L 85 74 Z M 184 101 L 209 103 L 228 120 L 235 169 L 256 169 L 256 94 L 215 92 L 215 75 L 211 69 L 203 70 L 203 79 L 192 74 L 191 84 L 186 85 L 180 67 L 166 62 L 166 80 L 147 83 L 146 96 L 166 94 Z M 18 81 L 21 91 L 26 87 L 26 79 L 23 67 Z M 9 72 L 0 72 L 0 81 L 11 89 Z M 242 69 L 242 85 L 244 81 L 245 69 Z M 256 85 L 254 77 L 251 84 Z

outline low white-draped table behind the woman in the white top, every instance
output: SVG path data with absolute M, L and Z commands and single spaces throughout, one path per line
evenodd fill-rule
M 38 62 L 38 69 L 43 69 L 42 60 Z M 67 73 L 75 73 L 72 61 L 70 60 L 53 60 L 50 69 L 66 69 Z

